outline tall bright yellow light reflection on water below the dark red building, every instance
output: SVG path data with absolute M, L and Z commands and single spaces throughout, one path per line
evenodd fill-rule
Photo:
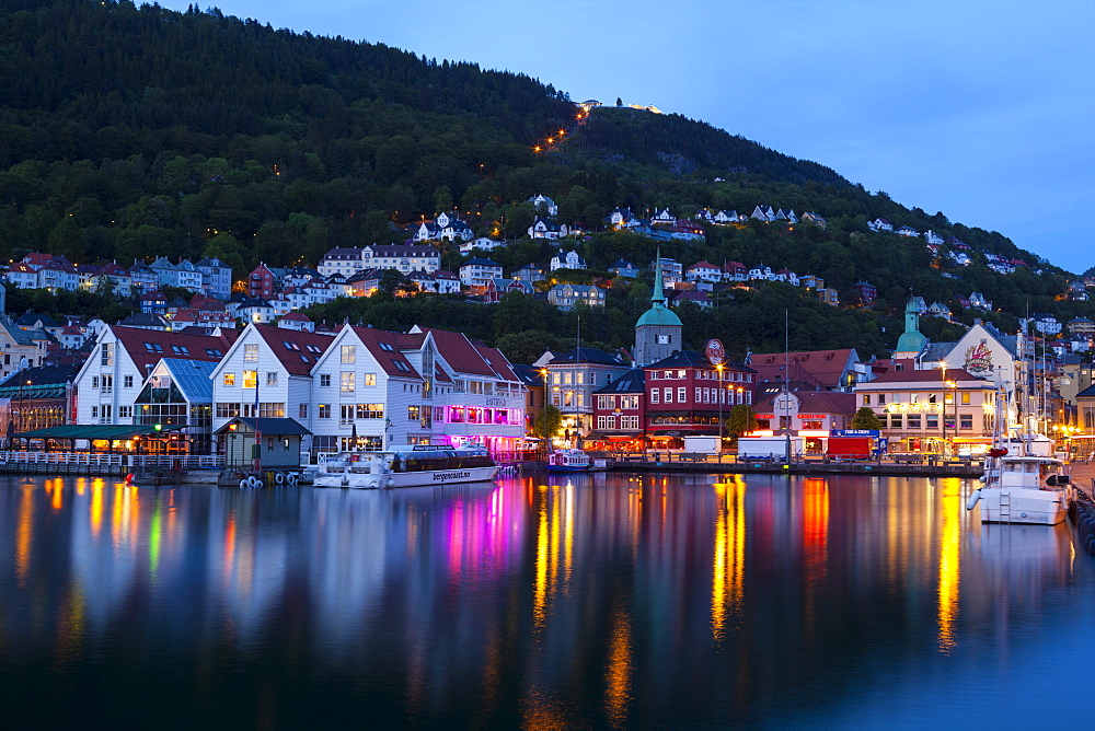
M 726 636 L 728 615 L 739 616 L 745 599 L 746 484 L 740 475 L 715 483 L 717 515 L 712 560 L 711 634 L 716 642 Z

